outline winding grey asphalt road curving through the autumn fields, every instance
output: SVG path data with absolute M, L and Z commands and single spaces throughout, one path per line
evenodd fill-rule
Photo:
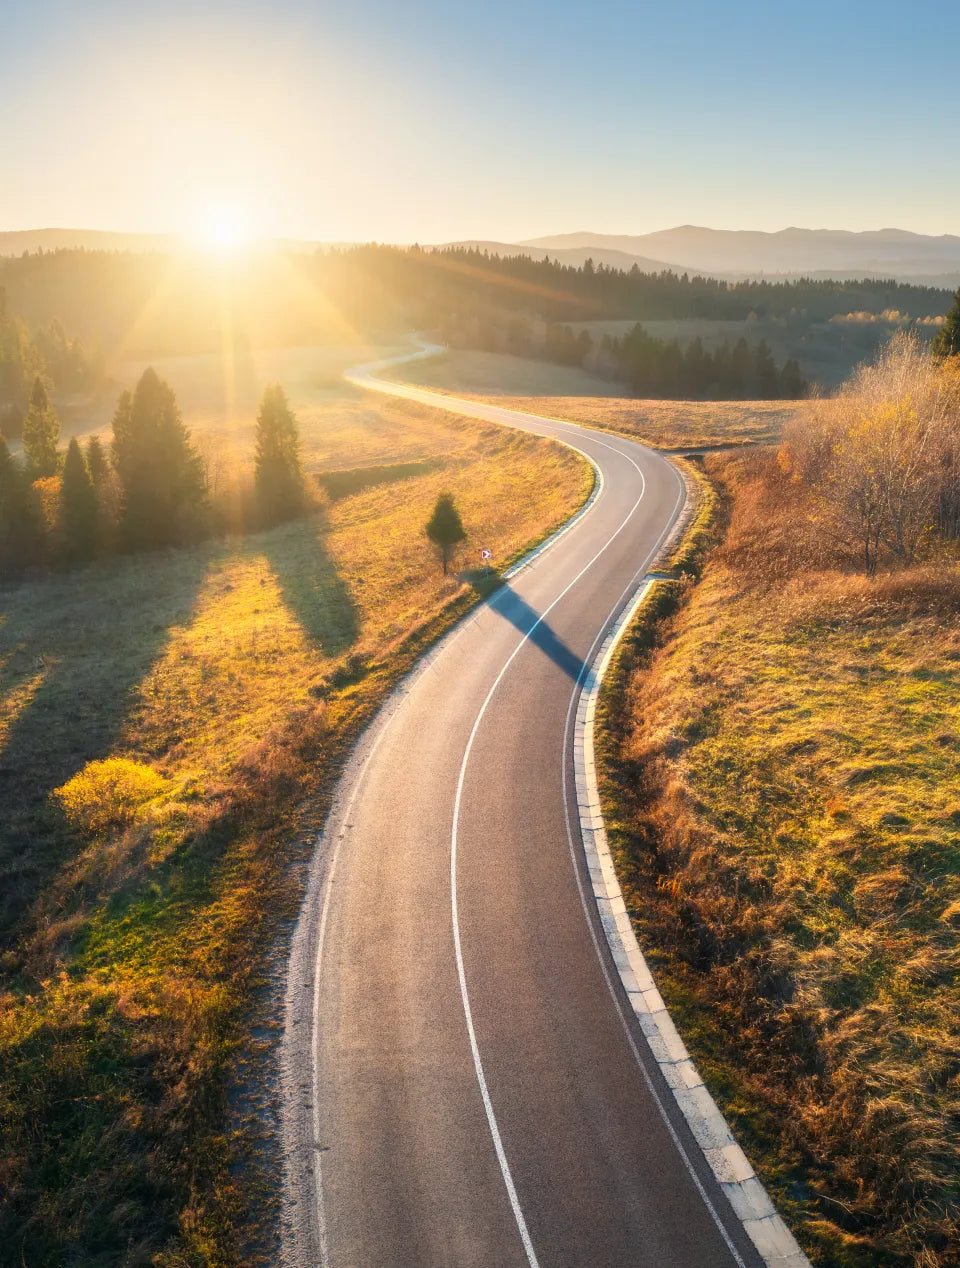
M 372 370 L 349 378 L 574 445 L 599 484 L 391 697 L 341 780 L 288 976 L 283 1262 L 758 1268 L 585 898 L 572 792 L 586 666 L 682 481 L 626 439 Z

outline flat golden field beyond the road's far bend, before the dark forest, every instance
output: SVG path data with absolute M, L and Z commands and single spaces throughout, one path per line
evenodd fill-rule
M 796 401 L 639 401 L 619 396 L 623 384 L 583 370 L 496 353 L 445 353 L 402 366 L 397 378 L 616 431 L 657 449 L 762 444 L 807 408 Z

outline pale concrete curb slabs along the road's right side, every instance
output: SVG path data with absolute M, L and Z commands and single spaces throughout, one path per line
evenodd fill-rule
M 686 472 L 681 472 L 681 476 L 687 486 L 689 510 L 665 544 L 665 555 L 692 519 L 696 502 L 690 496 L 692 479 Z M 618 643 L 656 585 L 656 579 L 645 577 L 633 602 L 620 614 L 590 666 L 577 704 L 573 768 L 590 885 L 610 954 L 647 1045 L 734 1215 L 769 1268 L 810 1268 L 807 1255 L 777 1215 L 747 1155 L 733 1139 L 727 1120 L 677 1033 L 637 941 L 606 839 L 594 747 L 597 700 Z

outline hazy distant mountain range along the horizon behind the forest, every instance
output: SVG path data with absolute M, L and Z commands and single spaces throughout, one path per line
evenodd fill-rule
M 0 255 L 85 247 L 99 251 L 166 251 L 178 245 L 172 235 L 117 233 L 103 230 L 24 230 L 0 232 Z M 318 242 L 276 242 L 308 250 Z M 332 245 L 332 243 L 326 243 Z M 340 246 L 345 243 L 337 243 Z M 733 280 L 751 278 L 895 278 L 921 285 L 960 287 L 960 236 L 938 237 L 907 230 L 788 228 L 776 233 L 748 230 L 709 230 L 695 224 L 657 233 L 558 233 L 522 242 L 470 240 L 445 246 L 477 247 L 500 255 L 549 255 L 562 264 L 582 265 L 592 259 L 611 269 L 642 273 L 701 273 Z

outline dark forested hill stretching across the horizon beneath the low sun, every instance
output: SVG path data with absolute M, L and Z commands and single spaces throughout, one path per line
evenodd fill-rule
M 306 344 L 431 328 L 451 318 L 548 322 L 676 318 L 824 322 L 889 311 L 937 317 L 950 294 L 876 280 L 722 281 L 526 256 L 365 246 L 236 259 L 53 251 L 0 260 L 10 311 L 55 318 L 108 355 L 208 351 L 230 337 Z

